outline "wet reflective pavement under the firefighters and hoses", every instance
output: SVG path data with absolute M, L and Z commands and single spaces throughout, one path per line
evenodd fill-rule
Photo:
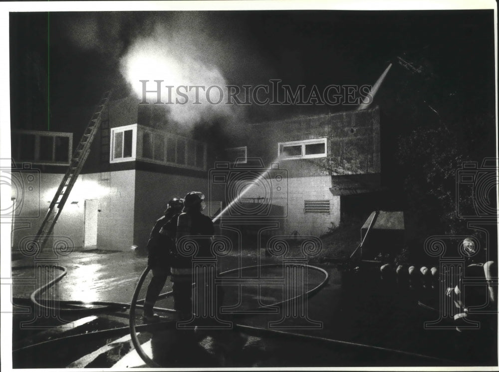
M 12 267 L 32 263 L 32 259 L 24 258 L 14 261 Z M 245 264 L 256 263 L 256 257 L 247 254 Z M 275 263 L 275 260 L 261 257 L 261 263 Z M 146 259 L 137 257 L 133 252 L 87 251 L 73 252 L 62 257 L 57 264 L 65 267 L 68 273 L 47 292 L 47 297 L 128 303 L 145 269 Z M 225 271 L 238 265 L 238 257 L 228 256 L 221 261 L 220 269 Z M 257 329 L 202 331 L 197 334 L 192 331 L 148 330 L 139 333 L 143 348 L 163 367 L 497 365 L 495 317 L 481 317 L 482 327 L 479 330 L 464 333 L 458 333 L 452 324 L 445 330 L 425 330 L 424 322 L 438 319 L 439 313 L 419 307 L 420 294 L 399 288 L 393 283 L 382 282 L 376 270 L 366 269 L 361 274 L 352 275 L 335 265 L 324 268 L 329 274 L 327 284 L 306 303 L 309 320 L 306 323 L 310 326 L 321 322 L 320 328 L 306 329 L 303 328 L 303 319 L 287 318 L 287 327 L 290 328 L 280 331 L 297 335 L 286 337 L 257 330 L 266 330 L 271 322 L 278 322 L 282 312 L 228 316 L 227 319 L 236 324 Z M 58 272 L 52 273 L 52 277 Z M 33 276 L 33 273 L 33 269 L 14 269 L 14 283 L 16 279 Z M 311 279 L 309 288 L 320 281 L 320 276 L 316 275 Z M 147 283 L 146 279 L 144 287 Z M 34 284 L 14 285 L 13 296 L 28 298 L 35 287 Z M 264 305 L 268 305 L 278 302 L 279 296 L 282 296 L 278 288 L 262 288 L 258 293 L 249 286 L 243 302 L 247 304 L 249 298 L 259 298 Z M 163 292 L 170 290 L 171 282 L 168 280 Z M 144 296 L 145 288 L 139 298 Z M 234 305 L 237 303 L 236 297 L 234 293 L 226 291 L 224 303 Z M 173 300 L 161 300 L 156 306 L 171 309 Z M 141 323 L 140 314 L 138 310 L 137 324 Z M 127 336 L 127 311 L 104 312 L 87 317 L 69 314 L 58 322 L 45 322 L 50 329 L 19 328 L 19 322 L 31 318 L 32 314 L 14 313 L 13 349 L 19 349 L 13 354 L 14 367 L 145 366 Z M 76 323 L 64 326 L 67 322 Z M 37 324 L 44 323 L 38 321 Z M 99 336 L 96 332 L 109 329 L 116 330 L 112 337 L 105 333 Z M 75 336 L 81 334 L 88 335 L 88 340 Z M 329 341 L 305 339 L 299 335 Z M 68 336 L 72 338 L 61 339 Z M 54 350 L 53 340 L 57 339 L 61 348 L 56 356 L 49 357 L 48 350 Z M 52 344 L 40 344 L 47 341 L 52 341 Z M 30 349 L 28 345 L 33 344 L 41 346 Z

